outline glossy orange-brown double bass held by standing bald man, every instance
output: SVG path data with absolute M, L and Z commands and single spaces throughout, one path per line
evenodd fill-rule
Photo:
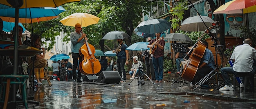
M 79 70 L 81 73 L 97 74 L 101 70 L 101 63 L 94 56 L 95 48 L 85 40 L 85 44 L 79 49 L 79 54 L 82 61 L 79 63 Z

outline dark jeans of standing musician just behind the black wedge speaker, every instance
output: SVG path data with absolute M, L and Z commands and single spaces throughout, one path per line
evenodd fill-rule
M 126 59 L 117 59 L 117 69 L 119 72 L 119 75 L 122 77 L 122 73 L 124 75 L 124 80 L 126 80 L 126 72 L 124 70 L 124 65 L 125 65 Z

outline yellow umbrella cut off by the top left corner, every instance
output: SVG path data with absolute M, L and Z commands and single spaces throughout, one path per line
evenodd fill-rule
M 35 8 L 35 7 L 58 7 L 67 2 L 75 2 L 75 1 L 81 1 L 81 0 L 0 0 L 0 4 L 13 7 L 11 4 L 16 1 L 23 2 L 23 5 L 20 8 Z

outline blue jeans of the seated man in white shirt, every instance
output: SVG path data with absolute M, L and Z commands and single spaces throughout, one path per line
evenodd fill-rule
M 249 73 L 254 74 L 253 71 L 255 71 L 255 70 L 252 70 Z M 229 79 L 229 74 L 238 74 L 238 72 L 234 71 L 232 67 L 221 68 L 220 72 L 221 72 L 222 78 L 224 79 L 226 85 L 231 85 L 232 84 L 231 80 Z M 243 78 L 241 78 L 241 81 L 242 81 L 242 83 L 244 83 Z

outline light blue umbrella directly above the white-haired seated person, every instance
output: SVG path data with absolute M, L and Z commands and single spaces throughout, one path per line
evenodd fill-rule
M 126 48 L 126 50 L 142 50 L 142 49 L 147 50 L 148 44 L 149 44 L 148 42 L 136 42 L 130 45 L 128 48 Z

